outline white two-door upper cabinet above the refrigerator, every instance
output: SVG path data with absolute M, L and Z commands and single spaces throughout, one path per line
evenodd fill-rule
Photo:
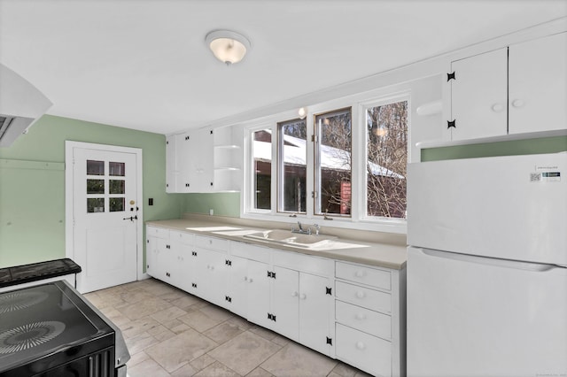
M 447 139 L 567 128 L 566 70 L 567 33 L 451 62 Z

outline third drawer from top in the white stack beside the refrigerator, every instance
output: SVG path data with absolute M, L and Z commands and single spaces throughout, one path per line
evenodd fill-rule
M 389 315 L 338 300 L 335 302 L 335 314 L 337 321 L 343 325 L 386 340 L 392 339 L 392 317 Z

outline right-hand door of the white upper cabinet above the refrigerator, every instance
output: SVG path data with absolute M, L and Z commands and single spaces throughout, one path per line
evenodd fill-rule
M 567 127 L 567 33 L 509 47 L 509 134 Z

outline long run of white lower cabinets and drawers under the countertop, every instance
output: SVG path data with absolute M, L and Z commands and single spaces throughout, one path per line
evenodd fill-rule
M 146 227 L 146 271 L 295 342 L 405 375 L 405 270 Z

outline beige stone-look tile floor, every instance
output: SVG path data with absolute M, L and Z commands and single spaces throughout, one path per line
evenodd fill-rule
M 120 327 L 130 377 L 368 376 L 154 279 L 85 296 Z

